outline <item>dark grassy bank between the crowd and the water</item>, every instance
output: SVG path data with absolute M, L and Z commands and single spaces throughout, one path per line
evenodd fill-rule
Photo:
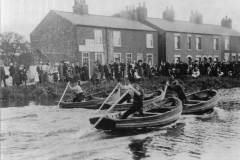
M 141 82 L 141 85 L 150 92 L 151 90 L 157 90 L 163 88 L 168 77 L 154 77 L 152 80 L 145 80 Z M 240 80 L 233 78 L 218 78 L 218 77 L 200 77 L 193 79 L 191 77 L 181 78 L 185 86 L 187 93 L 195 92 L 202 89 L 214 88 L 214 89 L 228 89 L 234 87 L 240 87 Z M 83 90 L 86 94 L 93 94 L 98 92 L 110 92 L 116 82 L 103 82 L 101 85 L 95 86 L 91 83 L 82 84 Z M 30 86 L 19 86 L 19 87 L 5 87 L 0 89 L 1 101 L 10 102 L 26 102 L 26 101 L 37 101 L 37 102 L 54 102 L 59 100 L 66 84 L 35 84 Z M 65 99 L 72 97 L 71 91 L 67 91 Z M 47 103 L 48 104 L 48 103 Z M 2 106 L 2 105 L 1 105 Z

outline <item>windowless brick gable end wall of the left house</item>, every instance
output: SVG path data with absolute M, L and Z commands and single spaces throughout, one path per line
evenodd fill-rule
M 50 12 L 31 33 L 31 46 L 51 61 L 73 60 L 77 51 L 74 33 L 74 25 Z

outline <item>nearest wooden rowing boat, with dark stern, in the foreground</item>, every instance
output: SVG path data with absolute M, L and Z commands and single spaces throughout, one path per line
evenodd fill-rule
M 133 130 L 166 126 L 177 121 L 182 113 L 181 100 L 173 97 L 152 101 L 146 107 L 148 107 L 148 111 L 143 112 L 144 116 L 133 114 L 127 119 L 120 118 L 123 112 L 110 113 L 103 117 L 95 128 L 102 130 Z M 90 123 L 95 124 L 99 118 L 90 118 Z

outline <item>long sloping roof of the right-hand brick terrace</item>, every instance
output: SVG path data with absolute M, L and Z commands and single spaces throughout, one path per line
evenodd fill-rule
M 170 32 L 240 36 L 240 33 L 236 30 L 212 24 L 196 24 L 178 20 L 168 21 L 160 18 L 147 18 L 147 21 L 162 30 Z

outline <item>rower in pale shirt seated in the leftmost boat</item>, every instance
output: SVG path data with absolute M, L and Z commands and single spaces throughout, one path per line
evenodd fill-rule
M 81 102 L 84 100 L 84 94 L 82 88 L 78 84 L 77 78 L 73 78 L 70 80 L 69 88 L 75 93 L 75 97 L 72 102 Z

